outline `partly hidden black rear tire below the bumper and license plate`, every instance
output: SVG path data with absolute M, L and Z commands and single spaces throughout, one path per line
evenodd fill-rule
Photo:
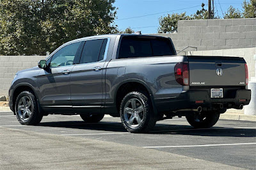
M 219 118 L 219 112 L 202 112 L 200 116 L 191 113 L 186 116 L 188 123 L 194 128 L 210 128 L 217 123 Z

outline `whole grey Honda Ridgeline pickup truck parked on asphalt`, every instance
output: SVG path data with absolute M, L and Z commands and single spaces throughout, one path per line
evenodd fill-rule
M 48 114 L 80 114 L 88 123 L 110 114 L 139 133 L 174 116 L 212 127 L 227 109 L 248 105 L 251 91 L 243 58 L 177 56 L 161 36 L 99 35 L 67 42 L 18 72 L 9 95 L 22 125 Z

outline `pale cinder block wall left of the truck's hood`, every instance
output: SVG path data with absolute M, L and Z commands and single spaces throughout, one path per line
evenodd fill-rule
M 0 95 L 8 96 L 15 73 L 37 66 L 46 56 L 0 56 Z

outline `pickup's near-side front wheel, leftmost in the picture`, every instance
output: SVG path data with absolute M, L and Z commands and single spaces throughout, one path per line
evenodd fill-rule
M 43 113 L 38 111 L 36 97 L 31 91 L 22 91 L 15 101 L 17 120 L 22 125 L 37 125 L 43 118 Z

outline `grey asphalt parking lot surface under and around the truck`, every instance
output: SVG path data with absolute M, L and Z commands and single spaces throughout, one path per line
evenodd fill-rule
M 185 118 L 130 134 L 120 118 L 83 123 L 49 115 L 20 125 L 0 112 L 0 169 L 256 169 L 256 122 L 220 120 L 194 129 Z

